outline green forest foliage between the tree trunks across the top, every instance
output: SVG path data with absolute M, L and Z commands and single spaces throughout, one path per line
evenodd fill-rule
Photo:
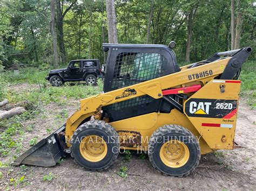
M 153 2 L 152 20 L 149 21 Z M 255 7 L 250 0 L 235 4 L 242 13 L 240 46 L 255 49 Z M 230 49 L 230 0 L 224 1 L 115 1 L 119 43 L 146 43 L 150 24 L 149 43 L 169 44 L 175 40 L 179 62 L 185 60 L 187 17 L 194 13 L 191 39 L 191 60 L 206 59 L 214 52 Z M 4 1 L 0 8 L 0 60 L 4 66 L 24 63 L 29 66 L 49 65 L 52 62 L 49 33 L 50 0 Z M 64 10 L 69 1 L 63 1 Z M 36 19 L 35 19 L 36 18 Z M 102 43 L 107 40 L 105 2 L 77 1 L 66 13 L 63 22 L 67 60 L 98 58 L 104 61 Z M 255 60 L 255 51 L 250 60 Z

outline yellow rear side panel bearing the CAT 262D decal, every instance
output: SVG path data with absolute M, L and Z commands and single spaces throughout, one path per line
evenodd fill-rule
M 212 149 L 233 149 L 239 80 L 212 80 L 184 103 L 184 112 Z

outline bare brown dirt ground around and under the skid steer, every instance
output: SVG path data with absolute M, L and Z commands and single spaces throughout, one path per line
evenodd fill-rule
M 49 135 L 46 129 L 55 130 L 65 123 L 63 109 L 71 115 L 77 108 L 78 101 L 69 101 L 64 107 L 52 103 L 45 105 L 42 116 L 23 122 L 24 128 L 34 125 L 32 132 L 26 131 L 23 135 L 24 150 L 29 148 L 28 142 L 35 135 L 41 140 Z M 184 178 L 161 175 L 151 166 L 149 158 L 142 159 L 137 153 L 132 153 L 129 161 L 125 160 L 124 154 L 119 154 L 114 165 L 101 173 L 86 171 L 71 157 L 66 157 L 60 164 L 49 168 L 2 167 L 0 190 L 7 187 L 14 189 L 10 179 L 18 180 L 23 175 L 24 180 L 18 183 L 16 189 L 256 190 L 255 121 L 256 111 L 248 108 L 245 100 L 241 100 L 235 137 L 241 148 L 203 155 L 196 170 Z M 2 163 L 11 160 L 11 155 L 0 157 Z M 125 179 L 117 174 L 121 166 L 130 167 Z M 52 173 L 53 179 L 43 181 L 44 175 L 49 173 Z

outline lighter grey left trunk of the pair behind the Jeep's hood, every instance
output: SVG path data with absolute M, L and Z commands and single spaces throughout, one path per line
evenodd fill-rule
M 58 67 L 59 57 L 58 57 L 58 49 L 57 49 L 57 33 L 55 30 L 55 0 L 51 0 L 50 32 L 52 37 L 53 66 Z

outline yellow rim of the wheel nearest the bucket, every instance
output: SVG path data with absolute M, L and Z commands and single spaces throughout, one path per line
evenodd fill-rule
M 79 150 L 82 156 L 90 162 L 98 162 L 106 156 L 107 144 L 103 138 L 90 135 L 82 139 Z

